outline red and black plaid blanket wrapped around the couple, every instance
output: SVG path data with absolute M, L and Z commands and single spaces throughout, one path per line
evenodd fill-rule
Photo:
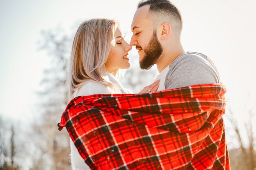
M 92 170 L 229 170 L 222 84 L 79 96 L 64 126 Z

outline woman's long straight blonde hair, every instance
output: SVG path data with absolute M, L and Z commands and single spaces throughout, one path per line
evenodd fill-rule
M 115 44 L 114 34 L 119 23 L 110 19 L 91 19 L 80 24 L 76 31 L 67 83 L 69 99 L 73 98 L 76 89 L 87 81 L 94 80 L 115 89 L 115 84 L 107 78 L 105 63 Z

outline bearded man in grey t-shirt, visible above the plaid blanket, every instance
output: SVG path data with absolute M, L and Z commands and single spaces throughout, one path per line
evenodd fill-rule
M 136 46 L 142 69 L 157 65 L 158 91 L 194 84 L 220 83 L 213 62 L 201 53 L 184 51 L 180 42 L 182 17 L 168 0 L 146 0 L 138 4 L 130 45 Z

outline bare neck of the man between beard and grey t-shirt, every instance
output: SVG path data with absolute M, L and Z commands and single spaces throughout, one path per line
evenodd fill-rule
M 159 58 L 159 61 L 157 61 L 157 70 L 159 71 L 159 73 L 161 73 L 164 68 L 166 68 L 168 65 L 170 65 L 177 57 L 179 57 L 180 55 L 184 54 L 185 51 L 183 49 L 183 47 L 177 46 L 177 48 L 175 49 L 169 49 L 168 51 L 166 51 L 163 56 L 161 56 Z

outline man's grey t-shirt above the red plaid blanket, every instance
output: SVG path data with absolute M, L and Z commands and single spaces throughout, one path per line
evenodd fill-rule
M 220 76 L 213 62 L 204 54 L 187 52 L 169 65 L 164 86 L 171 89 L 211 83 L 220 83 Z

